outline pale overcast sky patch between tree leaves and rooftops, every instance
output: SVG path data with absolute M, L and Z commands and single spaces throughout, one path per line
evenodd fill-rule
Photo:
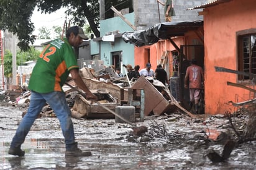
M 47 27 L 48 29 L 51 29 L 55 25 L 63 28 L 66 17 L 65 11 L 66 9 L 60 9 L 51 14 L 41 14 L 41 12 L 37 11 L 36 8 L 31 17 L 31 21 L 34 23 L 35 26 L 35 31 L 33 34 L 38 35 L 39 28 L 41 27 Z

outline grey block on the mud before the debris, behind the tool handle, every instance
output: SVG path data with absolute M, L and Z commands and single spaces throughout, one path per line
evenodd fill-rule
M 135 122 L 135 107 L 134 106 L 116 106 L 116 114 L 124 117 L 129 122 Z M 124 123 L 122 119 L 115 116 L 116 123 Z

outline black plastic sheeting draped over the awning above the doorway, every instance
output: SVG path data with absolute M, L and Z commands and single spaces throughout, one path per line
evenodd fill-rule
M 197 30 L 203 27 L 203 20 L 196 21 L 179 21 L 179 22 L 163 22 L 134 32 L 124 32 L 122 39 L 126 43 L 132 43 L 135 46 L 153 45 L 159 40 L 167 40 L 173 36 L 183 36 L 186 32 Z

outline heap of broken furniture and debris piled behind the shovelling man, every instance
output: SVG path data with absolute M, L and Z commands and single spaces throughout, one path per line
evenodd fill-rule
M 121 106 L 121 103 L 126 103 L 127 105 L 130 95 L 133 95 L 131 103 L 134 103 L 134 100 L 140 102 L 139 106 L 135 106 L 136 115 L 140 115 L 140 108 L 143 107 L 143 114 L 145 116 L 171 114 L 176 111 L 176 109 L 181 109 L 191 117 L 194 117 L 193 114 L 180 106 L 178 101 L 171 96 L 170 90 L 167 87 L 151 77 L 140 77 L 134 82 L 132 87 L 126 87 L 128 81 L 124 79 L 127 78 L 117 78 L 116 73 L 111 67 L 98 70 L 97 72 L 92 72 L 91 69 L 84 67 L 83 69 L 80 69 L 80 75 L 89 90 L 98 96 L 98 102 L 104 104 L 104 106 L 113 111 L 116 106 Z M 67 83 L 68 85 L 77 88 L 71 77 L 68 79 Z M 98 106 L 98 104 L 86 100 L 86 98 L 79 95 L 77 91 L 73 90 L 73 88 L 68 85 L 63 86 L 63 91 L 66 93 L 66 100 L 71 108 L 73 117 L 77 119 L 81 117 L 97 119 L 109 119 L 114 117 L 111 113 L 106 111 L 106 109 Z M 135 94 L 129 94 L 129 88 L 135 89 Z M 141 89 L 144 89 L 144 102 L 140 101 L 142 95 L 140 94 Z M 15 101 L 9 102 L 13 105 L 26 107 L 29 104 L 29 100 L 30 91 L 24 91 Z M 130 105 L 132 105 L 131 103 Z M 47 114 L 53 116 L 54 113 L 50 110 L 50 106 L 45 106 L 45 108 L 42 109 L 42 114 L 45 116 L 47 116 Z

